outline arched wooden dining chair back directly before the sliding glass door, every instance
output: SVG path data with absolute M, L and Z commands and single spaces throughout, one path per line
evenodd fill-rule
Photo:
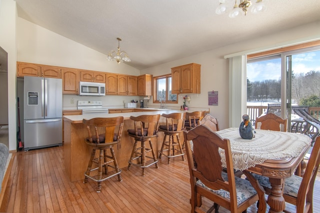
M 260 127 L 258 127 L 258 123 L 261 123 Z M 281 131 L 281 125 L 283 125 L 282 132 L 286 132 L 286 119 L 273 113 L 267 113 L 255 119 L 255 129 Z

